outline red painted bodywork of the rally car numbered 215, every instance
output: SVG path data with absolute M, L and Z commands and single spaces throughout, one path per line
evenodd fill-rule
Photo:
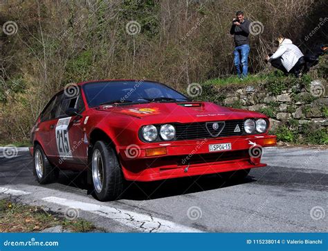
M 264 114 L 192 101 L 89 107 L 84 85 L 86 83 L 76 85 L 84 106 L 79 116 L 64 115 L 44 121 L 40 116 L 32 130 L 33 146 L 41 146 L 49 162 L 62 169 L 86 169 L 97 140 L 111 142 L 125 180 L 141 182 L 266 166 L 260 162 L 261 156 L 254 157 L 250 150 L 253 146 L 262 148 L 276 144 L 275 136 L 268 135 L 268 130 L 250 135 L 243 130 L 246 119 L 265 119 L 268 122 Z M 206 135 L 204 125 L 212 126 L 212 123 L 222 121 L 225 124 L 221 126 L 226 132 L 222 130 L 221 135 L 212 137 L 207 130 Z M 179 139 L 152 143 L 140 139 L 143 126 L 166 123 L 176 126 Z M 236 123 L 237 133 L 233 132 Z M 63 124 L 64 130 L 60 129 Z M 62 137 L 63 132 L 66 137 Z M 210 152 L 210 145 L 214 144 L 229 149 Z M 70 149 L 69 156 L 60 154 L 65 147 L 66 153 Z M 30 153 L 33 155 L 33 147 Z

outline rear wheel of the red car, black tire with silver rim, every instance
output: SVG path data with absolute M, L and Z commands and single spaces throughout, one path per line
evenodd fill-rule
M 42 172 L 38 171 L 41 170 L 41 168 L 37 168 L 36 158 L 39 159 L 39 165 L 42 164 Z M 57 181 L 60 171 L 56 166 L 53 166 L 48 161 L 48 158 L 44 154 L 44 150 L 42 149 L 41 146 L 39 145 L 35 146 L 33 159 L 34 159 L 33 173 L 35 175 L 35 178 L 37 178 L 37 182 L 39 182 L 39 184 L 50 184 Z

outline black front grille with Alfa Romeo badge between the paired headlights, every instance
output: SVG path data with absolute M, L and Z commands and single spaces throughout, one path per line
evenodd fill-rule
M 219 125 L 217 130 L 212 128 L 212 123 L 215 122 Z M 239 136 L 244 133 L 243 120 L 174 123 L 174 126 L 176 129 L 176 140 L 211 139 L 217 137 Z M 221 128 L 222 126 L 224 126 L 223 129 Z M 235 132 L 237 126 L 239 127 L 239 132 Z

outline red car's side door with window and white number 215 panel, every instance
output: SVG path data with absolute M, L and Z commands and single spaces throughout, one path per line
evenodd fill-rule
M 65 96 L 62 98 L 57 112 L 57 124 L 55 126 L 54 151 L 57 153 L 57 162 L 61 166 L 68 164 L 86 164 L 85 133 L 82 128 L 83 116 L 68 116 L 66 110 L 75 108 L 78 113 L 84 111 L 82 95 Z

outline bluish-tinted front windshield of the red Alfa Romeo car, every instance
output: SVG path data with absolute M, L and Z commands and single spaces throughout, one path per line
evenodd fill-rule
M 83 86 L 89 107 L 105 103 L 181 102 L 188 98 L 160 83 L 109 81 Z

